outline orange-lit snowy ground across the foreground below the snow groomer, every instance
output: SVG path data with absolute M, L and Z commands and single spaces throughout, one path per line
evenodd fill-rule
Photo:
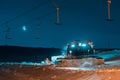
M 1 63 L 0 66 L 0 80 L 8 80 L 7 76 L 9 80 L 14 77 L 14 80 L 120 80 L 120 60 L 106 61 L 105 64 L 91 67 L 43 66 L 32 62 Z

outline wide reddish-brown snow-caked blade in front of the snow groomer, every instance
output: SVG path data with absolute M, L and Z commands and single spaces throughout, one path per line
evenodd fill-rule
M 83 59 L 62 59 L 57 66 L 61 67 L 91 67 L 94 65 L 104 64 L 104 59 L 83 58 Z

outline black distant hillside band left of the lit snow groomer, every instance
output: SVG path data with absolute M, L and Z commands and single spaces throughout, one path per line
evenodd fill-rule
M 0 62 L 41 62 L 59 54 L 61 49 L 58 48 L 0 46 Z

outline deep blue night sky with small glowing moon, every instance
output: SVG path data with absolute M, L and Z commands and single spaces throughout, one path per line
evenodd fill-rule
M 0 0 L 0 45 L 62 48 L 73 40 L 91 40 L 96 48 L 106 48 L 108 42 L 120 48 L 119 3 L 112 0 L 107 21 L 107 0 L 56 0 L 56 25 L 52 0 Z

